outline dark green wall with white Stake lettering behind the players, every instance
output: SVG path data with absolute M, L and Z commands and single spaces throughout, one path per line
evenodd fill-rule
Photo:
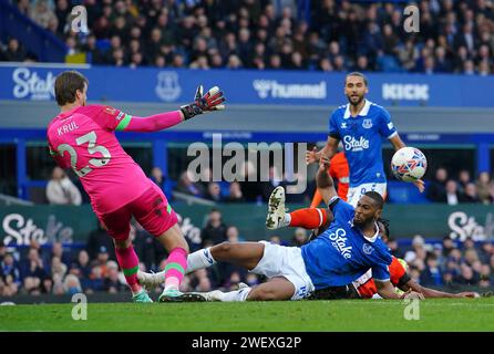
M 181 215 L 184 235 L 192 243 L 200 244 L 200 229 L 210 206 L 173 204 Z M 290 210 L 303 205 L 289 205 Z M 294 230 L 289 228 L 267 230 L 265 227 L 266 206 L 255 204 L 218 205 L 226 225 L 239 229 L 245 240 L 265 240 L 280 236 L 289 240 Z M 483 205 L 388 205 L 383 216 L 391 220 L 391 236 L 395 239 L 411 239 L 421 235 L 428 239 L 442 239 L 450 236 L 464 241 L 472 237 L 475 241 L 494 238 L 494 210 Z M 420 220 L 418 222 L 416 220 Z M 96 230 L 97 220 L 89 205 L 70 206 L 9 206 L 0 207 L 0 239 L 10 246 L 29 246 L 31 239 L 40 244 L 61 241 L 75 246 L 85 244 L 91 231 Z

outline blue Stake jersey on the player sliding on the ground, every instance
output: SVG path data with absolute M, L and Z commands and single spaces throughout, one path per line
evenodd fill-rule
M 341 199 L 332 207 L 332 212 L 335 219 L 329 228 L 301 248 L 316 290 L 349 284 L 369 269 L 374 279 L 389 280 L 388 266 L 392 259 L 380 236 L 366 238 L 352 223 L 353 207 Z

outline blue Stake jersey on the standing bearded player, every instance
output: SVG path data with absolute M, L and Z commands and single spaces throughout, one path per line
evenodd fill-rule
M 349 104 L 338 107 L 329 119 L 329 135 L 343 144 L 350 167 L 350 187 L 385 183 L 382 166 L 382 137 L 391 138 L 397 129 L 387 110 L 366 100 L 358 116 L 350 115 Z

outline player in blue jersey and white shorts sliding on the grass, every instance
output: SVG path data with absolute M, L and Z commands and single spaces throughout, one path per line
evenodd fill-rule
M 253 288 L 204 293 L 205 300 L 300 300 L 318 289 L 347 285 L 369 269 L 372 270 L 378 293 L 382 298 L 400 299 L 388 271 L 392 258 L 379 236 L 377 225 L 384 204 L 382 197 L 375 191 L 369 191 L 353 208 L 338 197 L 333 180 L 327 171 L 328 166 L 329 160 L 321 157 L 317 185 L 329 206 L 328 212 L 333 216 L 328 229 L 301 248 L 266 241 L 224 242 L 191 253 L 186 272 L 225 261 L 268 278 L 267 282 Z M 137 277 L 142 283 L 147 283 L 143 275 L 145 273 Z

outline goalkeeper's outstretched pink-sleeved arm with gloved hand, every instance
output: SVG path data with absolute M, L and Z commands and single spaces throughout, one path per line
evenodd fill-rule
M 112 121 L 111 117 L 103 117 L 102 122 L 105 127 L 113 131 L 143 133 L 159 132 L 191 119 L 198 114 L 222 111 L 225 108 L 223 102 L 225 102 L 225 97 L 218 86 L 214 86 L 203 95 L 203 86 L 199 85 L 194 102 L 181 106 L 177 111 L 142 117 L 130 115 L 110 107 L 110 110 L 106 110 L 106 112 L 103 113 L 106 113 L 110 116 L 113 115 L 114 119 Z

